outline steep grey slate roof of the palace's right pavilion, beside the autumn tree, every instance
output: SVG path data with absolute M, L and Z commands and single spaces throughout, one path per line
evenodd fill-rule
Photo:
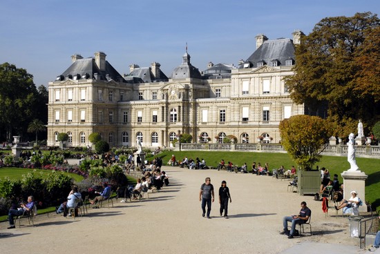
M 264 41 L 247 60 L 238 66 L 244 68 L 244 64 L 249 64 L 249 68 L 257 68 L 258 62 L 269 64 L 271 61 L 278 61 L 277 66 L 285 66 L 285 61 L 295 59 L 294 44 L 292 39 L 274 39 Z

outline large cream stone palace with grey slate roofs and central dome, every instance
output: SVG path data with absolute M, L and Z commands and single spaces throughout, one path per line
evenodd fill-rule
M 66 146 L 91 146 L 91 133 L 110 146 L 135 146 L 137 139 L 147 147 L 170 146 L 183 133 L 193 143 L 221 143 L 229 135 L 242 143 L 278 142 L 280 121 L 305 113 L 284 81 L 294 74 L 303 32 L 292 35 L 257 35 L 256 50 L 238 66 L 210 62 L 202 72 L 185 52 L 170 77 L 157 62 L 131 64 L 129 75 L 120 75 L 104 52 L 73 55 L 71 66 L 48 84 L 48 146 L 58 146 L 58 133 L 68 134 Z

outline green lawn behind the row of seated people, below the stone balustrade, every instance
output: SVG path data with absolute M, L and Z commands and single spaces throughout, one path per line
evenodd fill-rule
M 207 166 L 218 166 L 220 159 L 224 159 L 225 162 L 231 161 L 234 165 L 241 166 L 247 162 L 249 170 L 251 169 L 252 162 L 258 162 L 264 166 L 265 162 L 269 164 L 269 169 L 280 168 L 284 166 L 286 169 L 290 169 L 292 165 L 297 165 L 292 161 L 292 159 L 287 155 L 287 153 L 246 153 L 246 152 L 210 152 L 210 151 L 181 151 L 173 152 L 166 151 L 160 153 L 158 156 L 162 158 L 164 165 L 171 158 L 171 155 L 175 155 L 177 160 L 182 160 L 185 156 L 189 159 L 205 159 Z M 153 159 L 152 157 L 149 159 Z M 368 179 L 365 182 L 365 199 L 367 202 L 372 204 L 372 207 L 376 209 L 379 213 L 380 211 L 380 159 L 368 159 L 368 158 L 357 158 L 357 164 L 361 171 L 368 175 Z M 334 174 L 339 176 L 339 182 L 343 183 L 341 173 L 350 168 L 350 164 L 347 162 L 347 157 L 337 157 L 337 156 L 323 156 L 321 161 L 314 165 L 319 168 L 325 167 L 330 170 L 331 177 Z

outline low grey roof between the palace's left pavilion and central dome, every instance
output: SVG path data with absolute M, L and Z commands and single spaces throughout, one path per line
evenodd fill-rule
M 150 67 L 138 67 L 129 73 L 129 75 L 124 76 L 127 81 L 134 80 L 133 83 L 151 83 L 160 81 L 169 81 L 167 75 L 162 72 L 159 68 L 156 69 L 156 77 L 151 72 Z

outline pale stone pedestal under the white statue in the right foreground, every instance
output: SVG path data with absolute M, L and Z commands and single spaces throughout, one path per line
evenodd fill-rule
M 348 200 L 351 197 L 351 191 L 355 190 L 358 197 L 363 201 L 363 206 L 359 206 L 360 212 L 366 212 L 367 206 L 365 205 L 365 180 L 368 175 L 360 170 L 350 171 L 346 170 L 341 173 L 343 177 L 343 198 Z

